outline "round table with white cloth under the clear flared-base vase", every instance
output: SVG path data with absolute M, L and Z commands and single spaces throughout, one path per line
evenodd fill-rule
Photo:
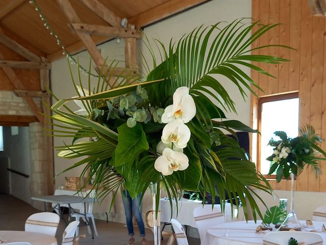
M 305 224 L 305 221 L 301 221 Z M 258 225 L 261 224 L 261 220 L 257 220 L 257 224 L 253 220 L 238 221 L 231 223 L 224 223 L 211 227 L 206 231 L 201 244 L 205 245 L 261 245 L 263 244 L 263 237 L 266 233 L 271 231 L 255 232 Z M 321 225 L 323 222 L 313 221 L 313 228 L 318 231 L 322 236 L 323 244 L 326 245 L 326 233 L 321 232 Z M 273 227 L 273 225 L 272 225 Z M 311 228 L 312 229 L 312 228 Z M 275 229 L 274 229 L 275 230 Z

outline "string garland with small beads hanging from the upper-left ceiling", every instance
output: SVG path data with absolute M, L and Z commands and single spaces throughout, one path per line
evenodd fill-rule
M 44 14 L 42 13 L 41 9 L 39 8 L 36 0 L 30 0 L 30 4 L 33 4 L 35 7 L 35 10 L 39 13 L 39 16 L 41 18 L 41 20 L 44 23 L 44 27 L 49 30 L 50 34 L 56 39 L 57 44 L 59 46 L 61 46 L 62 48 L 62 54 L 66 55 L 66 57 L 69 59 L 69 61 L 71 62 L 71 64 L 74 64 L 78 67 L 78 69 L 82 72 L 82 74 L 87 74 L 90 75 L 91 77 L 94 78 L 98 78 L 98 75 L 94 75 L 92 74 L 90 71 L 88 71 L 87 69 L 85 69 L 82 65 L 78 64 L 78 62 L 76 61 L 76 59 L 67 51 L 67 49 L 65 48 L 65 46 L 62 44 L 62 41 L 59 39 L 58 35 L 56 34 L 56 32 L 52 29 L 52 27 L 50 26 L 50 24 L 47 22 Z

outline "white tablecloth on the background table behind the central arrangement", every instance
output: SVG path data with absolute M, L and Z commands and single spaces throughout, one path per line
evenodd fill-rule
M 175 202 L 175 201 L 174 201 Z M 166 200 L 164 198 L 160 201 L 161 204 L 161 222 L 170 222 L 171 219 L 171 207 L 169 200 Z M 182 198 L 178 201 L 178 216 L 177 216 L 177 210 L 176 205 L 174 204 L 173 208 L 173 218 L 177 219 L 178 222 L 180 222 L 181 225 L 187 225 L 197 228 L 195 218 L 194 218 L 194 209 L 197 207 L 202 207 L 203 204 L 201 202 L 194 202 L 189 201 L 188 199 Z M 236 216 L 236 213 L 233 213 Z M 227 203 L 225 205 L 225 216 L 227 218 L 227 221 L 232 220 L 231 217 L 231 205 Z M 243 212 L 242 208 L 239 209 L 239 217 L 238 220 L 243 220 Z

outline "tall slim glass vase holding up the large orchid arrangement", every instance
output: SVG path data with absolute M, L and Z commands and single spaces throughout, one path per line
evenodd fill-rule
M 153 232 L 154 232 L 154 245 L 161 244 L 161 222 L 160 222 L 160 202 L 158 202 L 158 212 L 156 216 L 156 197 L 159 195 L 160 197 L 160 190 L 157 193 L 157 183 L 150 184 L 150 190 L 152 193 L 152 205 L 153 205 Z

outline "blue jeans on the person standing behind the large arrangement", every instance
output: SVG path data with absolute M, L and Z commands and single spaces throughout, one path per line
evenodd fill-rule
M 126 223 L 127 223 L 127 229 L 129 236 L 133 236 L 133 224 L 132 224 L 132 214 L 134 215 L 139 232 L 141 233 L 141 237 L 145 236 L 145 226 L 144 226 L 144 221 L 142 217 L 142 211 L 141 211 L 141 194 L 139 194 L 138 197 L 135 197 L 133 200 L 131 199 L 129 192 L 127 190 L 123 191 L 123 197 L 122 197 L 122 202 L 123 202 L 123 207 L 124 207 L 124 212 L 126 214 Z

